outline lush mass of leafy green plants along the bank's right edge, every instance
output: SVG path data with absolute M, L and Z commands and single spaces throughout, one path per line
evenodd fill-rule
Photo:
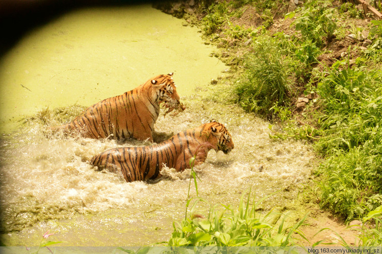
M 382 204 L 382 71 L 333 64 L 319 82 L 321 204 L 359 218 Z

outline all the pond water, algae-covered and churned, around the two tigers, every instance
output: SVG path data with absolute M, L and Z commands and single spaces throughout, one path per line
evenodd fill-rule
M 41 30 L 31 33 L 25 41 L 21 41 L 20 45 L 16 46 L 15 51 L 10 52 L 3 60 L 3 67 L 7 68 L 2 69 L 0 75 L 2 82 L 10 80 L 10 74 L 7 73 L 12 72 L 15 73 L 13 79 L 17 80 L 14 82 L 16 84 L 14 87 L 9 87 L 13 98 L 8 98 L 7 102 L 11 105 L 7 106 L 17 105 L 18 108 L 9 112 L 5 110 L 2 101 L 3 112 L 9 114 L 7 118 L 11 115 L 14 118 L 22 118 L 22 114 L 33 115 L 46 105 L 49 105 L 51 109 L 67 106 L 61 111 L 51 110 L 48 111 L 49 114 L 45 112 L 38 116 L 35 115 L 34 118 L 29 118 L 26 124 L 18 123 L 20 128 L 17 131 L 3 135 L 1 139 L 0 177 L 2 187 L 0 194 L 4 219 L 2 242 L 6 245 L 36 246 L 47 230 L 54 233 L 49 237 L 50 240 L 63 241 L 59 244 L 61 246 L 139 246 L 169 240 L 172 221 L 184 217 L 189 171 L 175 173 L 167 168 L 162 172 L 164 176 L 159 181 L 126 183 L 121 175 L 94 171 L 88 160 L 109 148 L 127 145 L 142 146 L 146 143 L 128 142 L 123 144 L 114 140 L 87 138 L 48 139 L 43 134 L 46 119 L 54 125 L 57 115 L 61 114 L 67 118 L 76 115 L 81 107 L 73 106 L 73 103 L 89 105 L 101 98 L 120 94 L 127 91 L 128 86 L 134 87 L 133 83 L 138 82 L 139 84 L 146 80 L 147 74 L 170 72 L 168 69 L 176 70 L 174 79 L 180 88 L 178 92 L 181 100 L 187 108 L 174 117 L 163 118 L 162 114 L 159 116 L 155 129 L 160 133 L 156 135 L 156 140 L 165 139 L 171 133 L 175 134 L 187 128 L 197 127 L 211 119 L 224 123 L 232 134 L 235 149 L 230 154 L 210 151 L 206 163 L 196 168 L 201 179 L 198 184 L 199 195 L 209 204 L 222 203 L 235 206 L 239 203 L 240 196 L 251 188 L 255 200 L 280 190 L 263 202 L 259 208 L 266 210 L 279 207 L 283 209 L 295 199 L 296 184 L 303 183 L 309 177 L 314 160 L 309 146 L 300 142 L 281 143 L 271 140 L 268 136 L 267 122 L 251 114 L 245 114 L 237 106 L 216 102 L 209 96 L 209 93 L 216 93 L 215 87 L 206 88 L 206 84 L 211 78 L 222 75 L 220 71 L 224 66 L 217 63 L 216 59 L 208 58 L 207 52 L 210 48 L 206 48 L 201 43 L 195 29 L 182 27 L 180 20 L 149 7 L 142 7 L 139 11 L 142 11 L 143 14 L 139 14 L 137 9 L 128 8 L 86 9 L 69 13 L 42 27 Z M 116 15 L 119 12 L 120 14 Z M 131 14 L 131 17 L 127 14 Z M 148 14 L 154 20 L 147 19 Z M 158 53 L 158 50 L 151 50 L 151 54 L 148 52 L 143 54 L 142 60 L 126 60 L 128 63 L 121 66 L 121 62 L 123 63 L 121 52 L 128 50 L 129 47 L 117 50 L 117 42 L 114 42 L 117 43 L 116 45 L 108 47 L 106 42 L 98 42 L 96 39 L 89 42 L 91 47 L 97 48 L 95 50 L 97 52 L 93 54 L 103 51 L 103 47 L 107 47 L 108 50 L 104 49 L 105 55 L 99 60 L 97 57 L 91 58 L 91 50 L 88 51 L 87 47 L 81 46 L 81 43 L 73 38 L 81 41 L 80 38 L 83 36 L 87 39 L 92 37 L 86 36 L 88 32 L 84 31 L 90 29 L 89 26 L 93 23 L 89 19 L 95 15 L 102 20 L 98 25 L 113 27 L 113 30 L 119 29 L 121 20 L 125 20 L 126 16 L 150 22 L 144 28 L 146 36 L 137 35 L 133 40 L 148 47 L 156 43 L 156 47 L 159 47 L 162 53 L 166 53 L 169 59 L 162 55 L 154 57 L 154 59 L 160 60 L 159 62 L 154 61 L 155 63 L 153 63 L 153 58 L 145 62 L 146 57 Z M 110 20 L 114 20 L 114 26 Z M 79 21 L 84 23 L 78 24 Z M 62 22 L 68 23 L 63 25 Z M 71 29 L 80 29 L 83 33 L 71 32 L 67 27 L 70 27 L 68 24 L 72 22 L 77 25 L 73 24 Z M 165 22 L 164 27 L 167 28 L 163 28 L 161 22 Z M 134 22 L 129 24 L 133 25 Z M 157 26 L 153 28 L 151 25 L 154 24 Z M 135 21 L 135 25 L 141 26 L 141 22 Z M 32 43 L 32 45 L 38 45 L 38 41 L 43 42 L 45 37 L 38 35 L 43 35 L 44 31 L 54 31 L 54 27 L 56 29 L 62 27 L 62 31 L 67 31 L 66 35 L 70 33 L 75 35 L 71 39 L 72 44 L 69 45 L 74 45 L 72 49 L 79 50 L 79 55 L 81 55 L 80 49 L 88 52 L 91 61 L 73 58 L 73 64 L 67 62 L 50 67 L 54 61 L 60 62 L 60 58 L 69 61 L 67 57 L 71 50 L 66 50 L 66 46 L 51 49 L 53 53 L 45 58 L 46 61 L 52 60 L 48 61 L 50 64 L 36 63 L 37 59 L 25 57 L 25 54 L 24 57 L 21 57 L 16 53 L 20 52 L 25 45 L 31 45 L 29 43 L 33 41 L 37 44 Z M 135 30 L 137 33 L 141 31 L 137 28 Z M 159 40 L 158 38 L 160 40 L 163 38 L 165 33 L 163 31 L 167 33 L 174 30 L 178 35 L 166 35 L 165 37 L 169 38 L 167 44 L 155 42 Z M 102 37 L 105 40 L 111 38 L 111 35 L 107 34 L 110 31 L 106 29 L 100 29 L 100 31 L 106 33 Z M 151 31 L 150 34 L 147 31 Z M 183 34 L 188 34 L 183 31 L 189 31 L 193 36 L 189 34 L 188 38 L 184 35 L 187 39 L 182 40 Z M 60 33 L 57 33 L 57 36 L 60 36 Z M 89 33 L 91 34 L 91 32 Z M 98 36 L 103 35 L 102 33 L 99 33 Z M 120 33 L 115 36 L 120 36 Z M 157 34 L 159 37 L 156 37 Z M 147 35 L 154 36 L 154 41 L 146 41 L 149 40 Z M 51 37 L 54 37 L 53 34 Z M 174 41 L 174 44 L 170 44 L 170 41 Z M 200 50 L 188 50 L 188 46 L 183 45 L 186 42 L 190 42 Z M 97 46 L 99 43 L 102 46 Z M 130 44 L 135 43 L 138 44 L 138 42 Z M 137 46 L 134 50 L 143 50 L 143 48 Z M 30 50 L 34 51 L 31 48 Z M 135 51 L 134 55 L 142 55 L 137 52 L 139 51 Z M 195 54 L 195 57 L 187 57 L 186 53 Z M 199 53 L 203 57 L 197 56 Z M 107 56 L 108 54 L 111 55 Z M 12 56 L 14 59 L 11 61 Z M 181 57 L 186 57 L 187 60 L 183 58 L 180 61 Z M 32 60 L 33 64 L 27 67 L 27 60 Z M 8 64 L 6 64 L 7 61 Z M 96 62 L 94 63 L 94 61 Z M 106 62 L 104 63 L 104 61 Z M 20 64 L 19 70 L 21 71 L 19 72 L 15 67 L 17 62 Z M 203 65 L 201 65 L 202 63 Z M 133 67 L 135 70 L 129 70 Z M 39 69 L 44 69 L 41 76 L 37 72 Z M 141 70 L 138 72 L 137 69 Z M 29 73 L 24 70 L 29 70 Z M 125 70 L 128 71 L 125 72 Z M 33 74 L 33 77 L 30 78 L 29 74 Z M 50 79 L 54 82 L 49 83 Z M 138 81 L 126 81 L 133 79 Z M 53 88 L 50 88 L 49 85 L 39 90 L 39 86 L 36 84 L 38 80 L 44 84 L 52 84 Z M 19 87 L 20 82 L 30 91 Z M 99 82 L 100 85 L 94 86 L 96 82 Z M 80 87 L 77 87 L 78 83 L 81 83 Z M 201 89 L 201 87 L 204 88 Z M 61 90 L 62 93 L 57 92 L 58 90 Z M 30 97 L 28 100 L 21 100 L 20 97 L 17 97 L 18 93 L 23 93 L 24 96 L 30 93 L 32 96 L 35 94 L 34 91 L 39 91 L 41 95 L 38 98 L 34 97 L 33 101 L 29 101 Z M 89 93 L 85 93 L 85 91 L 89 91 Z M 49 96 L 44 97 L 44 93 Z M 15 104 L 17 102 L 18 104 Z M 14 123 L 14 121 L 10 122 Z M 10 124 L 6 128 L 15 130 L 15 125 Z M 259 170 L 260 165 L 262 170 Z M 196 196 L 193 185 L 190 195 Z M 205 213 L 207 209 L 208 204 L 201 203 L 198 207 L 200 213 Z

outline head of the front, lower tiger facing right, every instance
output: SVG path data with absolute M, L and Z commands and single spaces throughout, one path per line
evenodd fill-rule
M 223 151 L 227 154 L 235 147 L 231 134 L 223 124 L 211 121 L 203 125 L 203 130 L 206 133 L 208 143 L 213 146 L 216 152 Z

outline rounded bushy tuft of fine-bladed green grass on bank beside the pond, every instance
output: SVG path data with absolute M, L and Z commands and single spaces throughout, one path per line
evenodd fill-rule
M 288 99 L 288 64 L 272 37 L 258 40 L 253 52 L 247 55 L 242 80 L 234 87 L 235 101 L 248 111 L 269 115 L 271 107 Z

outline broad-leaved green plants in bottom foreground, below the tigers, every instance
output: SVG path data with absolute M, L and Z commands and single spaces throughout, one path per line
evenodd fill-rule
M 238 210 L 231 206 L 223 205 L 223 210 L 214 206 L 207 218 L 193 212 L 197 203 L 191 215 L 173 223 L 169 246 L 291 246 L 295 244 L 294 234 L 305 238 L 298 228 L 306 216 L 291 227 L 285 227 L 284 216 L 276 226 L 281 214 L 269 212 L 263 216 L 257 213 L 256 204 L 250 205 L 250 193 L 247 203 L 241 197 Z

